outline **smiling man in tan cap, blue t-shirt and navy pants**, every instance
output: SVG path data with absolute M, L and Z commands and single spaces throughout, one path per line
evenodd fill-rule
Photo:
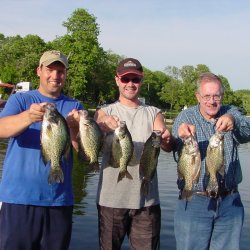
M 48 183 L 50 163 L 41 156 L 41 122 L 45 103 L 67 117 L 77 147 L 79 101 L 61 93 L 68 60 L 60 51 L 40 58 L 38 89 L 10 96 L 0 113 L 0 138 L 10 138 L 0 182 L 0 249 L 68 249 L 73 212 L 72 152 L 62 159 L 63 183 Z

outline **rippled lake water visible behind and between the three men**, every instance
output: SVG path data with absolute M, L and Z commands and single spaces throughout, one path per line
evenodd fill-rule
M 0 140 L 0 171 L 5 150 L 6 141 Z M 250 246 L 250 143 L 241 145 L 239 153 L 243 171 L 243 182 L 240 184 L 239 190 L 245 207 L 241 250 L 248 250 Z M 176 176 L 176 163 L 173 160 L 172 153 L 162 151 L 158 164 L 159 192 L 162 209 L 162 250 L 175 249 L 173 216 L 178 196 Z M 98 222 L 95 204 L 98 177 L 98 174 L 88 173 L 83 165 L 78 162 L 75 163 L 73 169 L 75 208 L 70 250 L 98 250 Z M 122 250 L 128 249 L 128 240 L 125 239 Z

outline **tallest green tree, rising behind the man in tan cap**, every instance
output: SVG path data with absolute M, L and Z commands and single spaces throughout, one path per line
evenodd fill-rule
M 84 9 L 76 9 L 63 23 L 67 34 L 52 42 L 69 57 L 67 94 L 93 102 L 97 99 L 101 72 L 106 53 L 98 43 L 99 26 L 96 18 Z

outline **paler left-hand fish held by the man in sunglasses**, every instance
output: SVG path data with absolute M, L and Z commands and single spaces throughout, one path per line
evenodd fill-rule
M 117 182 L 121 181 L 124 177 L 133 179 L 127 170 L 133 154 L 134 144 L 126 122 L 118 121 L 118 127 L 114 131 L 111 150 L 111 165 L 119 168 Z

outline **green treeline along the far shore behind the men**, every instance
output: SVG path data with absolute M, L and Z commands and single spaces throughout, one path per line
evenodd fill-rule
M 62 51 L 69 58 L 65 94 L 95 107 L 117 99 L 114 74 L 116 65 L 124 58 L 105 51 L 98 42 L 99 25 L 96 17 L 85 9 L 76 9 L 62 24 L 66 34 L 45 42 L 37 35 L 5 37 L 0 33 L 0 79 L 5 83 L 28 81 L 38 86 L 36 68 L 45 50 Z M 146 52 L 145 52 L 146 53 Z M 167 66 L 164 72 L 144 68 L 145 80 L 141 96 L 146 103 L 169 111 L 180 111 L 196 103 L 194 91 L 200 73 L 210 71 L 203 64 L 182 68 Z M 224 103 L 240 106 L 250 114 L 250 90 L 232 91 L 226 77 Z M 5 92 L 4 92 L 5 91 Z M 6 90 L 0 89 L 0 93 Z

